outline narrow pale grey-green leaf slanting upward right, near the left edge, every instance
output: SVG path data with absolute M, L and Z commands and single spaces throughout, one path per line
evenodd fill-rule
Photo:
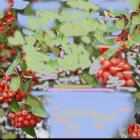
M 6 71 L 6 75 L 13 74 L 13 71 L 17 68 L 19 62 L 20 62 L 20 59 L 15 59 L 14 62 L 10 65 L 10 67 Z

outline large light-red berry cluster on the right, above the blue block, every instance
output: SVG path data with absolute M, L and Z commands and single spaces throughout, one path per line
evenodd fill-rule
M 134 87 L 135 82 L 132 79 L 131 66 L 125 59 L 112 58 L 107 60 L 104 56 L 99 58 L 101 69 L 97 70 L 96 77 L 102 85 L 106 85 L 109 80 L 109 75 L 119 77 L 119 80 L 124 80 L 123 86 Z

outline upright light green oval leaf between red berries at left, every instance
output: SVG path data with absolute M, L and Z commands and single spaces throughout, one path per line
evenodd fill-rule
M 14 77 L 9 86 L 13 91 L 17 91 L 20 86 L 20 77 L 19 76 Z

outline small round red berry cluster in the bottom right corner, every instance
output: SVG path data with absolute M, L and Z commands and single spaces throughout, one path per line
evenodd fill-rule
M 128 134 L 132 136 L 132 138 L 140 137 L 140 127 L 137 124 L 131 124 L 128 127 Z

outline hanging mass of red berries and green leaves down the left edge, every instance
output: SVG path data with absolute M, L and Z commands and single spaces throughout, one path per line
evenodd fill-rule
M 7 41 L 9 37 L 14 37 L 17 29 L 16 24 L 13 24 L 16 17 L 11 9 L 13 5 L 14 1 L 9 0 L 7 11 L 0 19 L 0 104 L 9 105 L 12 112 L 8 117 L 13 126 L 36 137 L 34 128 L 41 121 L 40 117 L 46 117 L 46 110 L 38 98 L 30 95 L 32 86 L 39 82 L 35 72 L 27 68 L 24 53 L 22 61 L 22 46 L 10 46 Z M 4 63 L 10 66 L 4 67 Z

